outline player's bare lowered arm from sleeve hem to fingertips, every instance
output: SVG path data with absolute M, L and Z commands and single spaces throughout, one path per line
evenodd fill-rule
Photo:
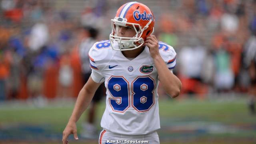
M 72 115 L 70 116 L 65 130 L 63 131 L 63 144 L 68 144 L 67 138 L 70 134 L 74 134 L 74 138 L 78 140 L 78 136 L 76 133 L 76 122 L 78 121 L 84 110 L 86 110 L 86 108 L 89 106 L 94 96 L 94 93 L 96 92 L 100 84 L 101 83 L 94 82 L 90 77 L 84 87 L 80 90 Z

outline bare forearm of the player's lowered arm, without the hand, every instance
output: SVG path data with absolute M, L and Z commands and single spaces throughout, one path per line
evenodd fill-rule
M 90 102 L 92 101 L 93 95 L 94 95 L 94 92 L 88 90 L 88 88 L 86 88 L 85 86 L 84 88 L 82 88 L 82 90 L 80 90 L 76 100 L 76 104 L 74 106 L 74 110 L 72 112 L 72 115 L 69 121 L 72 121 L 72 122 L 78 121 L 78 119 L 80 118 L 84 110 L 86 110 L 86 108 L 89 106 Z

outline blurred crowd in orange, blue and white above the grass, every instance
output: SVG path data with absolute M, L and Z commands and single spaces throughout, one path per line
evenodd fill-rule
M 86 69 L 80 50 L 85 27 L 108 40 L 110 19 L 124 2 L 0 0 L 0 100 L 76 97 Z M 157 38 L 177 52 L 182 94 L 251 91 L 256 0 L 138 2 L 154 12 Z

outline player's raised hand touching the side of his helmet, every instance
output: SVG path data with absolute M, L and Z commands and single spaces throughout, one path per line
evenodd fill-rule
M 154 35 L 150 35 L 146 38 L 144 45 L 148 46 L 150 51 L 150 56 L 155 58 L 156 56 L 160 56 L 158 50 L 158 39 Z

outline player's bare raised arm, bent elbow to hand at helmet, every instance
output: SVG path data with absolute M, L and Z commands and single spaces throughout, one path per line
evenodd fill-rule
M 146 38 L 144 43 L 150 49 L 150 56 L 154 60 L 154 64 L 158 71 L 159 80 L 162 83 L 166 93 L 172 98 L 176 98 L 180 94 L 181 82 L 180 80 L 170 72 L 166 63 L 162 59 L 158 50 L 158 40 L 156 36 L 150 35 Z

